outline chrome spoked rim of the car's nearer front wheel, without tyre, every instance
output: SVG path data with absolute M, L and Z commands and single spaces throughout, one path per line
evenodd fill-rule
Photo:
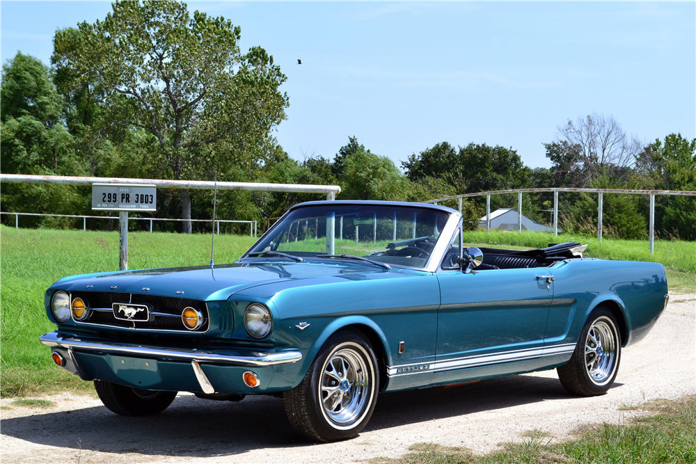
M 349 428 L 367 413 L 372 385 L 366 357 L 362 346 L 347 342 L 336 346 L 324 363 L 319 399 L 324 416 L 337 429 Z

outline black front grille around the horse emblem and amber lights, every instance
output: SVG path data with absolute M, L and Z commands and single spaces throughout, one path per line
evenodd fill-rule
M 99 324 L 100 326 L 112 326 L 122 328 L 135 328 L 136 330 L 175 330 L 180 332 L 205 332 L 209 327 L 208 311 L 205 301 L 191 300 L 190 298 L 175 298 L 173 296 L 157 296 L 148 294 L 127 294 L 111 291 L 73 291 L 72 298 L 82 298 L 90 309 L 90 314 L 84 321 L 85 324 Z M 148 304 L 152 307 L 149 321 L 125 321 L 116 319 L 113 315 L 113 303 Z M 184 327 L 181 314 L 187 307 L 196 308 L 203 314 L 203 325 L 196 330 L 188 330 Z

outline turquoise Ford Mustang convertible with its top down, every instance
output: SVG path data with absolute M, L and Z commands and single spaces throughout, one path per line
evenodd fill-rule
M 569 392 L 603 394 L 667 304 L 661 264 L 467 248 L 460 230 L 436 205 L 303 203 L 232 264 L 58 280 L 41 342 L 114 413 L 271 394 L 334 441 L 379 393 L 556 368 Z

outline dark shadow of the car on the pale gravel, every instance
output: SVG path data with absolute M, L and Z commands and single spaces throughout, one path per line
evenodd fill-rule
M 537 376 L 381 394 L 366 431 L 570 397 L 557 379 Z M 274 397 L 230 403 L 180 396 L 147 417 L 123 417 L 101 406 L 35 414 L 3 419 L 2 434 L 52 447 L 77 449 L 79 441 L 81 449 L 106 453 L 188 457 L 314 445 L 292 429 L 283 401 Z

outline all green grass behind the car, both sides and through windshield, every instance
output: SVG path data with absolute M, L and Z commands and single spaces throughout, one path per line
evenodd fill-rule
M 596 240 L 527 232 L 466 232 L 466 243 L 506 248 L 540 248 L 549 241 L 577 239 L 589 243 L 587 255 L 609 259 L 660 261 L 667 267 L 670 291 L 696 293 L 696 244 L 657 241 L 650 256 L 644 241 Z M 215 262 L 234 262 L 252 245 L 246 236 L 219 235 L 215 239 Z M 294 246 L 323 251 L 324 239 Z M 336 253 L 365 255 L 383 250 L 377 244 L 337 241 Z M 129 233 L 129 269 L 207 264 L 210 236 L 205 234 Z M 288 243 L 288 246 L 292 244 Z M 91 383 L 81 381 L 55 367 L 49 349 L 38 342 L 42 333 L 55 326 L 46 317 L 43 294 L 53 282 L 66 275 L 118 269 L 118 232 L 79 230 L 15 230 L 0 226 L 0 395 L 17 397 L 40 392 L 74 390 L 92 392 Z M 282 250 L 283 248 L 279 248 Z M 298 249 L 298 248 L 294 248 Z

